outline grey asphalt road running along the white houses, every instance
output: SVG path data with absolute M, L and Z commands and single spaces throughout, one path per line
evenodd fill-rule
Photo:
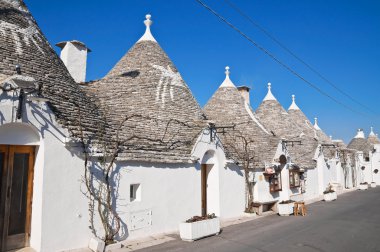
M 145 251 L 380 251 L 380 187 L 311 204 L 306 217 L 271 215 L 226 227 L 218 236 L 139 250 Z

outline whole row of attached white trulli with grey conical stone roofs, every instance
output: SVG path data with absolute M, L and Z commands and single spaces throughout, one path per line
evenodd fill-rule
M 338 156 L 294 99 L 286 111 L 269 87 L 255 113 L 249 89 L 237 88 L 229 69 L 203 112 L 151 34 L 150 15 L 143 36 L 110 72 L 84 83 L 90 52 L 84 43 L 58 43 L 60 59 L 22 0 L 1 1 L 4 9 L 0 251 L 70 250 L 103 237 L 86 181 L 95 191 L 109 186 L 111 212 L 120 218 L 116 240 L 177 231 L 195 215 L 240 216 L 246 174 L 225 134 L 231 128 L 253 140 L 248 188 L 261 206 L 317 197 L 332 182 L 355 186 L 359 171 L 346 169 L 354 165 L 364 167 L 360 182 L 380 183 L 373 132 L 364 149 L 348 146 L 361 151 L 358 159 L 344 147 Z M 363 140 L 359 132 L 355 142 Z

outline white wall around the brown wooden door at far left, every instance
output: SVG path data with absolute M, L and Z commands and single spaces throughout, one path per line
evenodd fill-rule
M 49 252 L 86 247 L 90 232 L 87 201 L 80 191 L 83 160 L 65 147 L 67 131 L 44 103 L 27 102 L 23 118 L 16 121 L 17 105 L 17 99 L 0 101 L 0 144 L 37 146 L 31 247 Z M 33 131 L 38 141 L 31 141 Z

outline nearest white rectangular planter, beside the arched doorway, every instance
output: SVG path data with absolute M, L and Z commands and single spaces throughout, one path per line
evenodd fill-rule
M 215 214 L 194 216 L 179 224 L 179 234 L 184 241 L 195 241 L 219 232 L 220 220 Z

